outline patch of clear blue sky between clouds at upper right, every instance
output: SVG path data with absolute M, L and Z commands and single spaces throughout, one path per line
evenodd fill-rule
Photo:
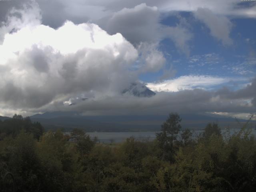
M 172 66 L 175 76 L 207 75 L 227 78 L 253 78 L 256 73 L 256 19 L 232 18 L 230 38 L 233 44 L 224 46 L 220 40 L 210 35 L 209 28 L 193 18 L 191 12 L 179 12 L 188 20 L 193 38 L 189 41 L 190 54 L 176 49 L 170 39 L 160 42 L 160 50 L 166 58 L 166 68 Z M 175 26 L 179 22 L 177 16 L 162 18 L 161 23 Z M 163 71 L 143 74 L 140 79 L 145 82 L 158 81 Z

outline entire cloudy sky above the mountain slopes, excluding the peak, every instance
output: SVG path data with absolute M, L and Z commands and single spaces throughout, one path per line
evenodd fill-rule
M 0 115 L 48 111 L 248 118 L 256 1 L 0 0 Z

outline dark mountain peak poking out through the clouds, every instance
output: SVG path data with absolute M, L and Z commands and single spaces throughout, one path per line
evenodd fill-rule
M 137 97 L 152 97 L 156 95 L 155 92 L 147 88 L 144 84 L 140 82 L 132 83 L 129 88 L 124 89 L 122 94 L 131 94 Z

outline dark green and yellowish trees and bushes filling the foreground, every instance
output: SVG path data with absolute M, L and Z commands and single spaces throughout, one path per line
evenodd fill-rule
M 15 116 L 0 122 L 0 173 L 12 172 L 19 192 L 256 190 L 256 138 L 248 127 L 224 137 L 217 124 L 208 124 L 193 140 L 190 130 L 180 132 L 180 120 L 170 114 L 152 142 L 107 145 L 78 129 L 38 139 L 34 123 Z

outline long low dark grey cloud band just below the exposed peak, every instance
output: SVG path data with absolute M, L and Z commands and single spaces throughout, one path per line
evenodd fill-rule
M 256 107 L 243 100 L 216 98 L 214 92 L 205 90 L 184 90 L 180 92 L 158 92 L 150 98 L 134 96 L 104 96 L 89 98 L 73 106 L 63 106 L 55 102 L 51 106 L 41 108 L 56 111 L 78 111 L 84 114 L 168 114 L 169 112 L 255 112 Z

